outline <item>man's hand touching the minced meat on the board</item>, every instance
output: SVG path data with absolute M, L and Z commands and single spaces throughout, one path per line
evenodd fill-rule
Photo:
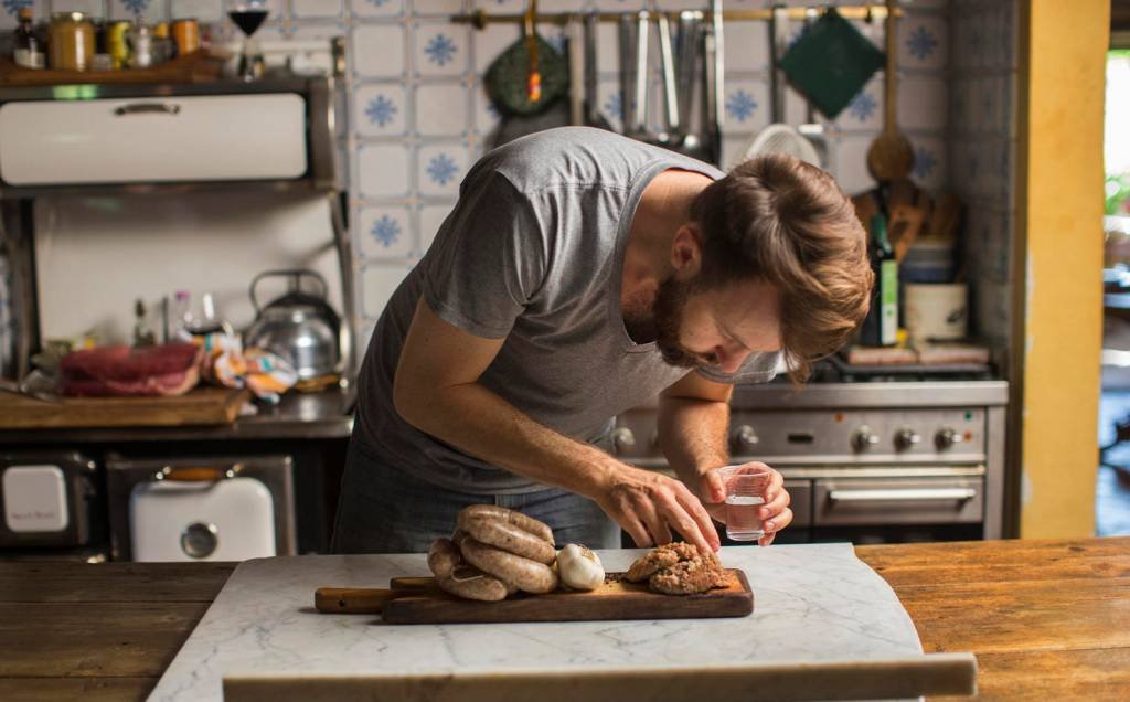
M 669 544 L 672 531 L 703 549 L 721 546 L 706 509 L 679 480 L 624 465 L 601 487 L 597 504 L 641 548 Z

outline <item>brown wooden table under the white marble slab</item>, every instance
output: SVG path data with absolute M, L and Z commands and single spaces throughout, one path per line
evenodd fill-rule
M 985 699 L 1130 699 L 1130 537 L 861 546 Z M 0 700 L 153 690 L 235 565 L 0 563 Z

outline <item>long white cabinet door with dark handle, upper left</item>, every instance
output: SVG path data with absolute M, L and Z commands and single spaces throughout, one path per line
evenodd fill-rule
M 9 185 L 294 179 L 306 103 L 292 93 L 0 105 Z

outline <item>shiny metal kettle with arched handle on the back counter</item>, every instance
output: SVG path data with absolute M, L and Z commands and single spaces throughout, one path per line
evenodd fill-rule
M 259 306 L 255 286 L 264 278 L 288 278 L 285 295 Z M 303 292 L 303 280 L 314 280 L 319 291 Z M 341 359 L 341 318 L 325 301 L 329 287 L 318 271 L 267 270 L 251 281 L 255 321 L 244 333 L 245 347 L 259 347 L 290 362 L 301 380 L 337 372 Z

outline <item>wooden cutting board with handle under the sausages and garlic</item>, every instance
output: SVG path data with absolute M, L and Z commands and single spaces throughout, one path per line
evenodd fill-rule
M 698 619 L 744 617 L 754 610 L 746 573 L 729 569 L 730 587 L 702 595 L 660 595 L 609 573 L 588 592 L 516 595 L 499 603 L 452 597 L 432 578 L 397 578 L 390 589 L 320 588 L 322 613 L 377 614 L 390 624 L 481 624 L 488 622 L 590 622 L 605 619 Z

